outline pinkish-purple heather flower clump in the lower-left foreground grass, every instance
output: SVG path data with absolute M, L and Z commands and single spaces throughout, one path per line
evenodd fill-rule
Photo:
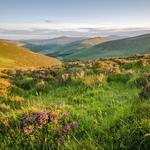
M 59 142 L 63 142 L 67 139 L 69 133 L 78 128 L 78 123 L 70 119 L 69 112 L 64 112 L 63 115 L 59 115 L 57 111 L 52 111 L 51 113 L 47 110 L 36 111 L 24 115 L 21 129 L 25 135 L 30 135 L 37 131 L 36 129 L 42 128 L 51 122 L 51 125 L 56 126 L 58 129 L 56 129 L 56 133 L 54 133 L 56 134 L 54 138 L 57 137 Z

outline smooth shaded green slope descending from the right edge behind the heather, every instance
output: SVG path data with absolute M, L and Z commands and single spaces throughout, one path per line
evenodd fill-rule
M 130 56 L 150 52 L 150 34 L 108 41 L 76 53 L 63 56 L 64 60 L 88 60 L 102 57 Z

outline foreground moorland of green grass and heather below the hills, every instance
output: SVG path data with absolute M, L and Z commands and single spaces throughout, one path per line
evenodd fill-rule
M 1 149 L 150 148 L 150 56 L 0 72 Z

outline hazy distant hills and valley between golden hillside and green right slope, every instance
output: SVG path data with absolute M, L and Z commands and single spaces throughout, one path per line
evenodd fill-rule
M 63 56 L 65 55 L 70 55 L 81 49 L 89 48 L 110 40 L 108 37 L 59 37 L 49 40 L 26 40 L 21 42 L 24 43 L 24 47 L 33 52 L 54 56 L 63 60 Z

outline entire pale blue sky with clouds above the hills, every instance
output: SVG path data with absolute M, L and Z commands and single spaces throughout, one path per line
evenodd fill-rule
M 150 0 L 0 0 L 0 38 L 150 33 Z

